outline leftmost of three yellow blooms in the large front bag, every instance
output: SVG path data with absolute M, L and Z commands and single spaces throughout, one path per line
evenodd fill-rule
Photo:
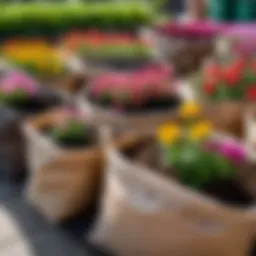
M 157 137 L 160 143 L 170 144 L 179 138 L 181 134 L 180 127 L 176 124 L 164 124 L 157 130 Z

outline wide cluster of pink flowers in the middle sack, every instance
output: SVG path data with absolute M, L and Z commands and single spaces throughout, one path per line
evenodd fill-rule
M 135 72 L 106 72 L 92 81 L 91 99 L 120 109 L 168 103 L 175 96 L 175 79 L 168 66 L 150 66 Z

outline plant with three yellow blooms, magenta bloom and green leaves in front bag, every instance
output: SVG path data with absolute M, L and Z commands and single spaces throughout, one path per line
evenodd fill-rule
M 245 160 L 241 145 L 212 138 L 212 125 L 201 119 L 200 112 L 196 103 L 186 103 L 180 110 L 181 124 L 164 124 L 157 131 L 164 166 L 197 188 L 232 179 L 236 164 Z

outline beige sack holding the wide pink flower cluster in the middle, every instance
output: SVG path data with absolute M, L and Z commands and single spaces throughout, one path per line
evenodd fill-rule
M 185 81 L 178 82 L 178 95 L 182 101 L 194 99 L 194 93 Z M 155 130 L 156 126 L 177 116 L 177 108 L 144 112 L 121 113 L 93 104 L 86 96 L 86 90 L 77 100 L 77 106 L 84 116 L 90 116 L 99 125 L 108 125 L 118 130 Z

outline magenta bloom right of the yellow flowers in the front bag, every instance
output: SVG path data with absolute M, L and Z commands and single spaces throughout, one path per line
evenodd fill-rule
M 233 162 L 241 163 L 246 160 L 245 148 L 235 142 L 223 142 L 218 146 L 218 151 Z

